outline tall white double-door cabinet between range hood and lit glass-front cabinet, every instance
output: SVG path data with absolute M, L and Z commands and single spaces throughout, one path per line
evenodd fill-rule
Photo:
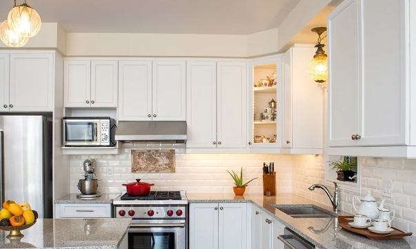
M 247 147 L 245 85 L 245 62 L 187 62 L 187 148 Z

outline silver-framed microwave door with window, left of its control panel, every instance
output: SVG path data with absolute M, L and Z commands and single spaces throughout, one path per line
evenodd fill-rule
M 63 146 L 99 146 L 99 121 L 87 119 L 63 119 Z

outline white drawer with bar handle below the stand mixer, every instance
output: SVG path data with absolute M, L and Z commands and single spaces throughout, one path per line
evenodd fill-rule
M 111 218 L 111 204 L 58 204 L 55 218 Z

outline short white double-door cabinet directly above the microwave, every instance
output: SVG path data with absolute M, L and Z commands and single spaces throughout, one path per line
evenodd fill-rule
M 117 107 L 118 61 L 65 61 L 63 106 Z

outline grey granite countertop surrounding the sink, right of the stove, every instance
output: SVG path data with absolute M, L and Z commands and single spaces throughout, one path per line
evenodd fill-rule
M 363 235 L 357 235 L 339 227 L 336 218 L 322 219 L 295 219 L 277 210 L 272 205 L 277 206 L 299 206 L 310 204 L 320 209 L 328 210 L 333 215 L 351 215 L 348 212 L 333 212 L 332 206 L 326 206 L 311 199 L 295 195 L 293 193 L 278 193 L 275 197 L 266 197 L 261 193 L 244 194 L 237 196 L 234 194 L 192 194 L 186 193 L 189 203 L 203 202 L 250 202 L 262 208 L 268 215 L 284 224 L 284 226 L 297 232 L 306 240 L 313 243 L 320 249 L 346 249 L 346 248 L 366 248 L 366 249 L 393 249 L 401 248 L 416 249 L 416 237 L 407 236 L 404 239 L 368 239 Z

